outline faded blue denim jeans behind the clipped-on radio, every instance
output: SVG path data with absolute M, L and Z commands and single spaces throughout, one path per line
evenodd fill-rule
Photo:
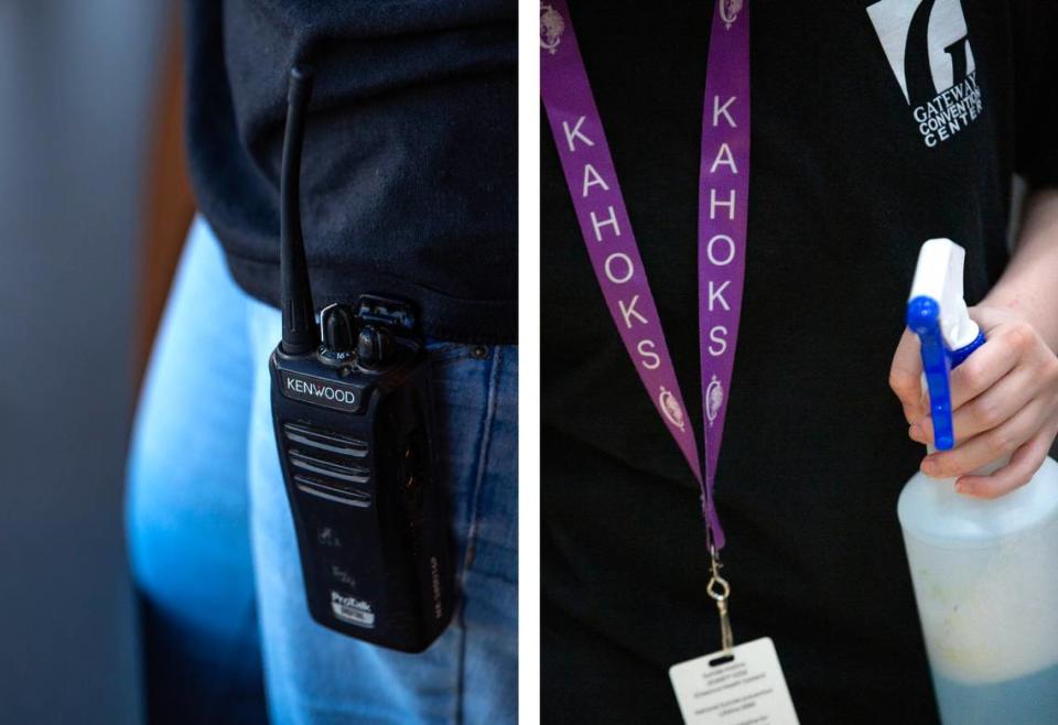
M 315 624 L 272 433 L 280 315 L 188 235 L 144 382 L 127 521 L 149 710 L 182 723 L 514 723 L 517 348 L 432 343 L 461 604 L 422 654 Z M 264 704 L 267 703 L 267 705 Z

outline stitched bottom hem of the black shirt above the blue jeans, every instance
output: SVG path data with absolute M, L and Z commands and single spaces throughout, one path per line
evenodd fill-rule
M 240 257 L 225 250 L 228 269 L 244 292 L 272 307 L 279 307 L 279 266 Z M 468 300 L 454 297 L 415 282 L 376 271 L 364 273 L 348 268 L 312 267 L 312 297 L 316 309 L 334 302 L 353 302 L 360 294 L 382 294 L 414 302 L 421 313 L 423 333 L 439 340 L 468 345 L 517 345 L 516 300 Z

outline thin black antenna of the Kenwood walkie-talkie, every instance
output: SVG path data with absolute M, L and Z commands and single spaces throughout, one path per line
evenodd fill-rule
M 279 182 L 279 274 L 280 306 L 283 311 L 283 353 L 304 355 L 320 345 L 305 242 L 301 235 L 301 147 L 305 138 L 305 109 L 312 98 L 312 68 L 290 69 L 287 91 L 287 131 L 283 136 L 283 165 Z

